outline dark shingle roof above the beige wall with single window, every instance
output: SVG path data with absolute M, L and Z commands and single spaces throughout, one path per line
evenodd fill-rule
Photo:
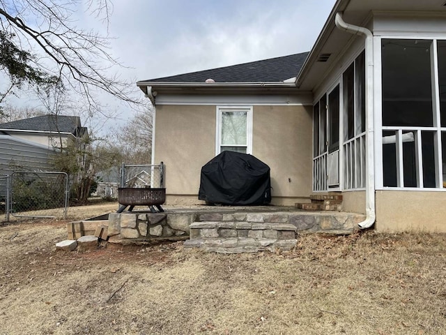
M 215 82 L 283 82 L 298 75 L 308 54 L 309 52 L 302 52 L 223 68 L 144 80 L 144 82 L 205 82 L 207 79 L 213 79 Z

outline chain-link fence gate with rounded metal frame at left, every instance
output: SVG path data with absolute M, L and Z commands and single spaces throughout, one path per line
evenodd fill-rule
M 5 205 L 6 216 L 65 218 L 68 193 L 68 174 L 65 172 L 13 172 L 9 181 L 9 205 Z

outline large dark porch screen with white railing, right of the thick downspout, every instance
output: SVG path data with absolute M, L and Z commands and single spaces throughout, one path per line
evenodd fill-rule
M 446 41 L 383 39 L 383 186 L 444 188 Z

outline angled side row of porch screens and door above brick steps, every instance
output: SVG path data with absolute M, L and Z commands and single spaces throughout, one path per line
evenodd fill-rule
M 365 53 L 362 52 L 344 71 L 341 84 L 314 105 L 313 191 L 326 191 L 330 187 L 364 188 L 365 157 Z

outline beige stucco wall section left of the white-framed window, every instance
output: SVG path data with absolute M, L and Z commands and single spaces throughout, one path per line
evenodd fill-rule
M 167 202 L 197 195 L 201 167 L 215 156 L 215 106 L 160 105 L 155 118 L 155 163 L 164 162 Z

